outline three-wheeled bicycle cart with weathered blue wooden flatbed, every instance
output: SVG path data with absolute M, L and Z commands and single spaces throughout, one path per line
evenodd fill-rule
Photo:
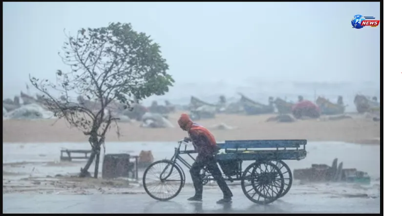
M 184 150 L 181 150 L 183 144 Z M 227 181 L 240 181 L 246 197 L 257 204 L 268 204 L 287 194 L 292 186 L 293 176 L 283 160 L 301 160 L 307 155 L 307 140 L 230 140 L 218 143 L 220 153 L 216 155 L 223 176 Z M 143 175 L 143 186 L 152 198 L 167 201 L 177 196 L 186 183 L 183 168 L 191 165 L 181 154 L 188 154 L 193 160 L 194 150 L 183 140 L 178 142 L 170 160 L 156 161 L 148 166 Z M 223 151 L 223 152 L 222 152 Z M 254 161 L 242 169 L 243 161 Z M 203 184 L 213 180 L 208 170 L 202 171 Z M 154 177 L 156 182 L 150 182 Z M 156 187 L 162 189 L 154 190 Z M 169 191 L 168 191 L 169 189 Z

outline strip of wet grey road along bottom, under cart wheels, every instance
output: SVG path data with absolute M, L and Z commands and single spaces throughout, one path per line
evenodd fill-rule
M 202 202 L 189 202 L 193 189 L 183 191 L 171 201 L 153 200 L 148 194 L 108 195 L 29 195 L 3 194 L 3 213 L 380 213 L 380 198 L 345 198 L 323 194 L 288 194 L 269 205 L 248 200 L 233 190 L 232 204 L 215 202 L 218 190 L 205 190 Z

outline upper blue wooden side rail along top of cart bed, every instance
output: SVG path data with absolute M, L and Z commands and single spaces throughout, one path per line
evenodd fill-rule
M 263 149 L 263 148 L 300 148 L 307 144 L 305 139 L 284 140 L 227 140 L 218 143 L 221 149 Z

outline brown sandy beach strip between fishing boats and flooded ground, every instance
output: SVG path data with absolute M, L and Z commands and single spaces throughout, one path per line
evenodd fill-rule
M 176 126 L 180 113 L 169 115 Z M 209 128 L 218 141 L 237 139 L 307 139 L 308 141 L 340 141 L 350 143 L 380 143 L 380 122 L 362 115 L 341 120 L 308 119 L 293 123 L 266 122 L 275 115 L 229 115 L 219 114 L 214 119 L 197 121 Z M 224 123 L 233 129 L 219 130 L 216 125 Z M 141 128 L 140 122 L 119 123 L 121 136 L 115 126 L 107 133 L 106 141 L 176 141 L 186 132 L 180 128 Z M 69 128 L 64 120 L 3 120 L 3 142 L 85 142 L 87 137 L 75 128 Z

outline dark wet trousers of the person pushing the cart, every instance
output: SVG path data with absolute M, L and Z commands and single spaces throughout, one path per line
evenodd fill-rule
M 232 197 L 233 194 L 229 189 L 228 185 L 226 184 L 225 179 L 222 176 L 222 173 L 219 170 L 217 161 L 213 157 L 202 158 L 202 159 L 197 157 L 197 159 L 190 168 L 190 174 L 195 188 L 195 195 L 202 196 L 203 185 L 202 185 L 202 176 L 200 172 L 201 169 L 204 169 L 204 167 L 209 171 L 209 173 L 212 174 L 214 180 L 221 189 L 223 196 L 225 198 Z

